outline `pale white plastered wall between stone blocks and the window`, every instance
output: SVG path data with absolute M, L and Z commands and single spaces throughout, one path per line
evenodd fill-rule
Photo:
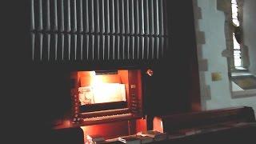
M 245 0 L 255 3 L 255 0 Z M 246 5 L 251 5 L 251 3 Z M 230 80 L 228 78 L 228 63 L 225 57 L 222 57 L 222 51 L 226 50 L 226 39 L 224 33 L 225 15 L 222 11 L 217 10 L 216 0 L 198 0 L 198 7 L 202 10 L 202 19 L 199 19 L 199 30 L 205 32 L 206 43 L 202 45 L 202 58 L 208 60 L 208 70 L 200 72 L 201 86 L 210 86 L 209 93 L 205 90 L 201 94 L 203 110 L 213 110 L 226 108 L 230 106 L 252 106 L 256 113 L 256 95 L 247 98 L 232 98 L 230 91 Z M 247 6 L 252 8 L 253 6 Z M 256 9 L 254 11 L 256 14 Z M 249 10 L 248 10 L 249 11 Z M 249 12 L 248 12 L 249 13 Z M 251 18 L 252 16 L 250 16 Z M 254 20 L 255 20 L 254 15 Z M 255 23 L 255 22 L 254 22 Z M 250 25 L 251 24 L 251 25 Z M 246 25 L 252 26 L 252 23 Z M 256 25 L 255 25 L 256 26 Z M 255 35 L 256 28 L 250 30 Z M 248 30 L 246 34 L 250 33 Z M 256 38 L 256 37 L 254 37 Z M 256 48 L 256 39 L 254 39 L 254 47 Z M 256 49 L 255 49 L 256 50 Z M 256 54 L 254 54 L 256 55 Z M 255 61 L 256 62 L 256 61 Z M 200 64 L 200 63 L 199 63 Z M 253 66 L 252 66 L 253 67 Z M 212 81 L 211 73 L 218 72 L 222 76 L 220 81 Z

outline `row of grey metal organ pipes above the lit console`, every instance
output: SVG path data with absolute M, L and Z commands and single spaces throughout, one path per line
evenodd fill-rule
M 34 61 L 147 61 L 162 58 L 168 48 L 166 0 L 30 0 L 30 4 Z

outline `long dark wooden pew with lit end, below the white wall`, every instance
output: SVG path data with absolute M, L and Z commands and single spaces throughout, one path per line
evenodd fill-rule
M 178 131 L 221 129 L 241 122 L 255 122 L 251 107 L 232 107 L 219 110 L 206 110 L 186 114 L 163 115 L 154 117 L 154 130 L 169 134 Z

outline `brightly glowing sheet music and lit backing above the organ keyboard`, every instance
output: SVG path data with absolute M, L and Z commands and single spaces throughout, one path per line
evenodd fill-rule
M 82 105 L 126 101 L 126 87 L 121 84 L 118 74 L 96 75 L 95 71 L 90 71 L 88 76 L 86 79 L 89 81 L 86 83 L 89 85 L 79 88 L 79 100 Z

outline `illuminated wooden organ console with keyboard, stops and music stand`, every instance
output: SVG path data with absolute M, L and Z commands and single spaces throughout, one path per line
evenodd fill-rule
M 142 118 L 141 70 L 76 71 L 72 124 L 90 126 Z

